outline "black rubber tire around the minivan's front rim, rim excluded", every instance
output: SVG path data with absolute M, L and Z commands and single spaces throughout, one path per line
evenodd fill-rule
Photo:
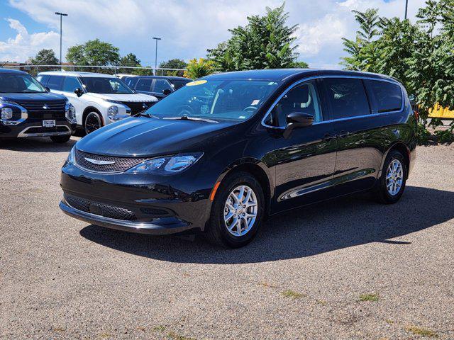
M 249 186 L 253 189 L 255 196 L 258 200 L 258 212 L 257 218 L 253 227 L 243 236 L 235 236 L 228 232 L 228 229 L 225 225 L 223 212 L 226 200 L 228 195 L 233 191 L 237 186 Z M 216 197 L 214 199 L 213 205 L 211 207 L 211 217 L 209 222 L 209 232 L 211 233 L 211 239 L 215 239 L 216 243 L 222 244 L 229 248 L 238 248 L 240 246 L 245 246 L 252 241 L 257 234 L 260 226 L 262 225 L 263 215 L 265 212 L 265 198 L 263 196 L 262 187 L 260 183 L 250 174 L 238 172 L 229 176 L 228 179 L 225 179 L 221 186 L 219 186 L 218 191 L 216 192 Z

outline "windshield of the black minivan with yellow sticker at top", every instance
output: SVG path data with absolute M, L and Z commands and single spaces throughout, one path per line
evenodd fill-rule
M 157 102 L 146 113 L 157 118 L 189 117 L 246 120 L 277 88 L 275 81 L 199 80 Z

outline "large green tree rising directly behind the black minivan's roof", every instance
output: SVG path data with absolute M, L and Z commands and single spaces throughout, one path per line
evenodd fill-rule
M 289 14 L 284 4 L 266 8 L 265 16 L 248 16 L 248 25 L 229 30 L 231 38 L 208 50 L 217 71 L 294 67 L 298 53 L 294 33 L 287 26 Z

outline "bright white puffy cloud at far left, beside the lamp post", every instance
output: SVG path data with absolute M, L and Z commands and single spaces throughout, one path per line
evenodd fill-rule
M 9 27 L 16 30 L 16 37 L 6 41 L 0 41 L 0 60 L 23 62 L 28 57 L 33 57 L 42 48 L 55 50 L 58 41 L 58 33 L 40 32 L 28 34 L 26 28 L 16 19 L 6 19 Z

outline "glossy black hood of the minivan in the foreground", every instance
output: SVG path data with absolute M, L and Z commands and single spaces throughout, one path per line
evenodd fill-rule
M 194 120 L 126 118 L 92 132 L 77 142 L 77 149 L 92 154 L 148 157 L 186 151 L 203 151 L 209 137 L 234 129 L 236 123 Z M 196 144 L 201 145 L 196 146 Z M 190 149 L 191 147 L 198 149 Z

